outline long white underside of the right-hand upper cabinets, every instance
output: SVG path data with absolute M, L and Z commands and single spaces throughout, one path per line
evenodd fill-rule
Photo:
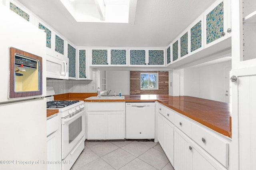
M 167 67 L 171 69 L 183 69 L 229 56 L 231 56 L 231 38 L 227 38 L 226 40 L 222 40 L 219 43 L 202 49 L 201 51 L 191 54 L 184 59 L 180 59 L 178 62 L 168 65 Z

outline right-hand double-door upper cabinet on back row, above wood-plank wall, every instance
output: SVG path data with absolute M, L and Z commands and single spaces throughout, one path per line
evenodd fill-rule
M 164 67 L 164 48 L 129 48 L 128 66 L 132 67 Z

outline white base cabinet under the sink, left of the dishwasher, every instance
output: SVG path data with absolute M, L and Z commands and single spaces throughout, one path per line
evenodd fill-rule
M 124 120 L 124 102 L 87 103 L 87 139 L 124 139 Z

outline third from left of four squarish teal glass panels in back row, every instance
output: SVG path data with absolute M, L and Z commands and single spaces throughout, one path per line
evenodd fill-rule
M 145 50 L 130 50 L 130 65 L 146 65 Z

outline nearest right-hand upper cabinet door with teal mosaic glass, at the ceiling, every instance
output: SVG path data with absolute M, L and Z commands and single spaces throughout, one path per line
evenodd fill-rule
M 228 1 L 230 2 L 230 0 L 218 0 L 204 12 L 205 48 L 223 41 L 229 37 L 228 34 L 231 34 Z

